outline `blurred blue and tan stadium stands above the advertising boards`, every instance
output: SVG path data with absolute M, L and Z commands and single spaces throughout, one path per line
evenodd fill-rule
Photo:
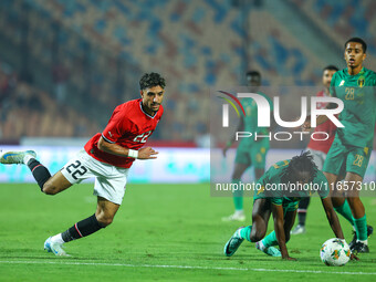
M 375 11 L 372 0 L 2 0 L 0 142 L 101 132 L 150 71 L 168 83 L 154 139 L 197 142 L 210 90 L 243 85 L 250 69 L 264 85 L 320 85 L 357 35 L 376 70 Z

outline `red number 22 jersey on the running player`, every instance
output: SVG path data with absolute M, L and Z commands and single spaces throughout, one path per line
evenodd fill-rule
M 164 108 L 160 105 L 154 116 L 148 115 L 142 108 L 140 98 L 118 105 L 103 133 L 97 133 L 86 143 L 86 153 L 100 161 L 116 167 L 129 168 L 135 160 L 134 158 L 121 157 L 98 149 L 97 144 L 101 136 L 106 142 L 138 150 L 155 130 L 163 113 Z

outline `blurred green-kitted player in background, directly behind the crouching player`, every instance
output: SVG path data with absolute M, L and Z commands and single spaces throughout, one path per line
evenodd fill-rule
M 258 92 L 261 85 L 261 74 L 259 72 L 249 71 L 247 73 L 247 82 L 250 91 L 263 95 L 269 101 L 269 104 L 272 106 L 271 100 L 264 94 Z M 252 98 L 242 98 L 241 104 L 246 111 L 246 117 L 240 119 L 237 132 L 250 132 L 252 134 L 258 133 L 260 135 L 267 135 L 268 133 L 265 132 L 265 128 L 258 127 L 258 106 Z M 226 156 L 227 150 L 231 147 L 233 142 L 234 136 L 231 137 L 231 139 L 223 148 L 223 156 Z M 252 138 L 241 139 L 237 149 L 234 169 L 231 177 L 233 184 L 239 184 L 241 176 L 251 166 L 254 168 L 254 176 L 257 179 L 259 179 L 264 174 L 267 153 L 270 146 L 269 143 L 269 138 L 259 138 L 258 140 L 254 140 Z M 243 211 L 243 191 L 233 191 L 233 205 L 236 209 L 234 213 L 222 218 L 222 220 L 244 221 L 246 215 Z

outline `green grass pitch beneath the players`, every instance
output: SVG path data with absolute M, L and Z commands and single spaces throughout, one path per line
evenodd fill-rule
M 376 238 L 370 253 L 342 268 L 325 267 L 321 244 L 334 234 L 320 199 L 309 208 L 306 234 L 292 237 L 282 261 L 247 241 L 231 257 L 223 246 L 237 222 L 221 222 L 231 198 L 210 197 L 209 185 L 129 184 L 112 226 L 66 244 L 69 258 L 43 251 L 44 240 L 91 216 L 92 185 L 75 185 L 46 196 L 36 185 L 0 185 L 0 281 L 375 281 Z M 376 227 L 376 198 L 363 198 L 368 223 Z M 251 198 L 246 198 L 248 222 Z M 270 220 L 269 229 L 272 229 Z M 341 218 L 347 239 L 351 227 Z

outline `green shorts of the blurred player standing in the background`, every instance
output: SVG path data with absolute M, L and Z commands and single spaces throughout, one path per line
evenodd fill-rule
M 265 168 L 269 142 L 255 142 L 251 146 L 239 145 L 237 149 L 236 164 L 253 166 L 254 168 Z

